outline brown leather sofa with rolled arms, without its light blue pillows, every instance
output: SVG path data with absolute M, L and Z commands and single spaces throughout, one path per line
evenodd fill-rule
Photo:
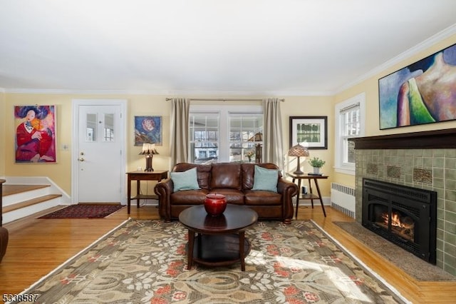
M 268 169 L 278 169 L 273 163 L 257 165 Z M 298 193 L 298 187 L 282 178 L 279 173 L 277 193 L 252 190 L 254 166 L 254 163 L 212 163 L 209 165 L 178 163 L 173 168 L 173 172 L 197 168 L 197 181 L 201 189 L 173 192 L 171 178 L 157 183 L 155 193 L 159 198 L 160 217 L 167 222 L 177 219 L 185 208 L 203 204 L 208 193 L 219 193 L 227 197 L 227 203 L 248 206 L 257 211 L 259 219 L 291 223 L 291 218 L 293 218 L 291 198 Z

